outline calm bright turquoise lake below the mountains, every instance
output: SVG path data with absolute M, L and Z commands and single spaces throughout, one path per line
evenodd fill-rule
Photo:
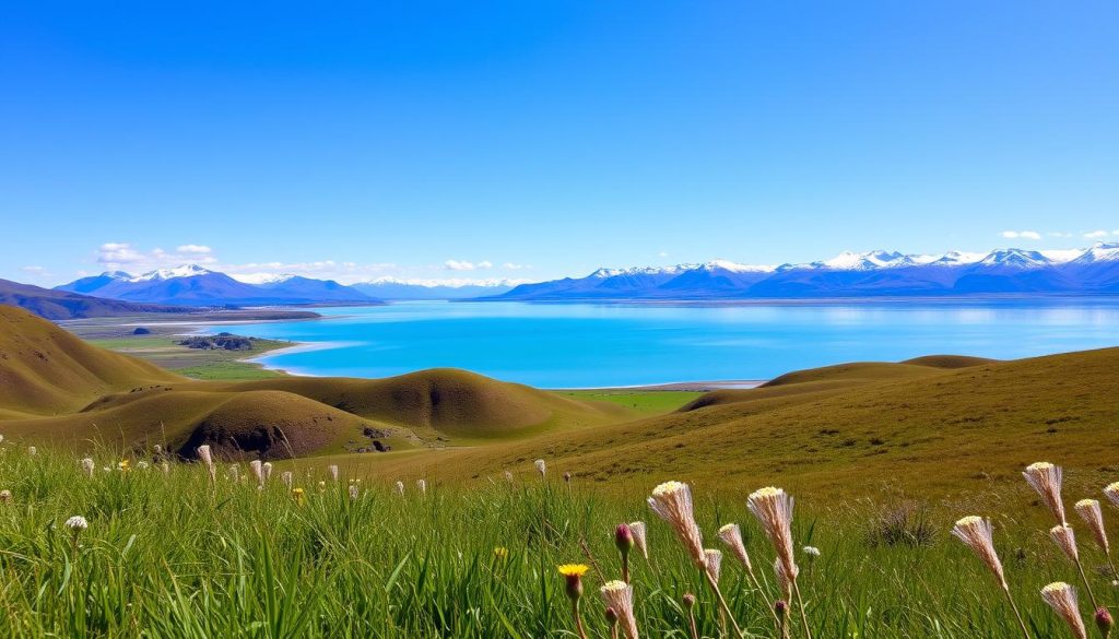
M 384 377 L 466 368 L 547 388 L 769 379 L 931 354 L 1018 358 L 1119 345 L 1119 301 L 648 306 L 404 302 L 236 327 L 305 342 L 260 361 Z M 210 327 L 207 330 L 229 330 Z

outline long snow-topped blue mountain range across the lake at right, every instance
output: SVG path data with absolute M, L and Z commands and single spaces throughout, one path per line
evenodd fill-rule
M 803 264 L 727 261 L 599 269 L 585 278 L 521 284 L 482 301 L 735 300 L 981 294 L 1119 294 L 1119 243 L 1075 251 L 998 248 L 909 255 L 840 253 Z

